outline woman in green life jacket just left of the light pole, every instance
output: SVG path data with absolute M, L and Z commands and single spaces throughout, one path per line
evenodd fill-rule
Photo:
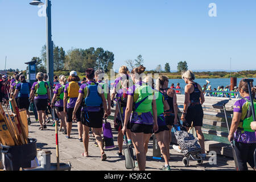
M 43 125 L 43 114 L 46 114 L 47 102 L 51 96 L 49 93 L 49 85 L 43 81 L 44 74 L 39 72 L 36 74 L 38 81 L 34 82 L 30 92 L 30 100 L 35 100 L 35 107 L 38 111 L 38 119 L 40 122 L 39 130 L 46 128 L 46 124 Z

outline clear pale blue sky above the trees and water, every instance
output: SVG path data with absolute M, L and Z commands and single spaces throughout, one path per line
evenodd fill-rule
M 0 0 L 0 69 L 25 69 L 46 43 L 46 19 L 32 0 Z M 44 0 L 42 0 L 45 2 Z M 209 3 L 217 17 L 209 17 Z M 102 47 L 114 68 L 143 56 L 147 69 L 256 69 L 256 1 L 52 0 L 52 39 L 67 52 Z

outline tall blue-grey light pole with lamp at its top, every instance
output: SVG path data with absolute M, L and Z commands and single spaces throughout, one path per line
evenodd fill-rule
M 43 2 L 32 1 L 30 5 L 44 5 Z M 47 55 L 47 75 L 48 81 L 53 85 L 53 42 L 52 42 L 52 23 L 51 23 L 51 1 L 46 0 L 46 55 Z

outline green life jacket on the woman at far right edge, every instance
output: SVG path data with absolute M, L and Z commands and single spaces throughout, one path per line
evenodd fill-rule
M 249 132 L 254 132 L 254 130 L 251 130 L 251 122 L 253 122 L 253 112 L 251 110 L 251 102 L 247 100 L 247 98 L 243 98 L 246 100 L 246 105 L 247 107 L 247 113 L 245 115 L 245 118 L 241 119 L 240 124 L 238 125 L 238 129 L 240 129 L 242 132 L 243 131 L 249 131 Z M 253 100 L 253 105 L 254 105 L 254 112 L 256 112 L 256 100 Z

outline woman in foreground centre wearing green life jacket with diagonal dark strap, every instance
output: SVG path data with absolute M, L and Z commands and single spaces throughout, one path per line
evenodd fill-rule
M 134 68 L 131 71 L 131 79 L 133 80 L 133 86 L 130 86 L 127 92 L 127 107 L 125 110 L 125 122 L 122 128 L 122 133 L 125 134 L 127 130 L 127 124 L 130 119 L 131 112 L 133 115 L 130 121 L 131 138 L 133 146 L 135 148 L 138 167 L 140 171 L 144 171 L 146 168 L 146 154 L 144 151 L 144 143 L 147 137 L 158 130 L 158 119 L 156 111 L 156 102 L 154 93 L 151 86 L 148 86 L 142 81 L 142 73 L 145 71 L 145 67 Z M 134 105 L 134 107 L 133 107 Z M 153 111 L 153 115 L 151 114 Z

